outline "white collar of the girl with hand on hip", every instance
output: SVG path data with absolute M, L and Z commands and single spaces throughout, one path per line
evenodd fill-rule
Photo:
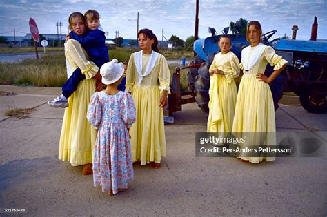
M 261 55 L 264 53 L 264 49 L 266 47 L 267 46 L 263 43 L 259 43 L 252 51 L 250 59 L 248 53 L 250 51 L 251 46 L 248 46 L 242 50 L 242 63 L 245 71 L 250 71 L 253 68 L 255 63 L 257 63 L 261 58 Z

